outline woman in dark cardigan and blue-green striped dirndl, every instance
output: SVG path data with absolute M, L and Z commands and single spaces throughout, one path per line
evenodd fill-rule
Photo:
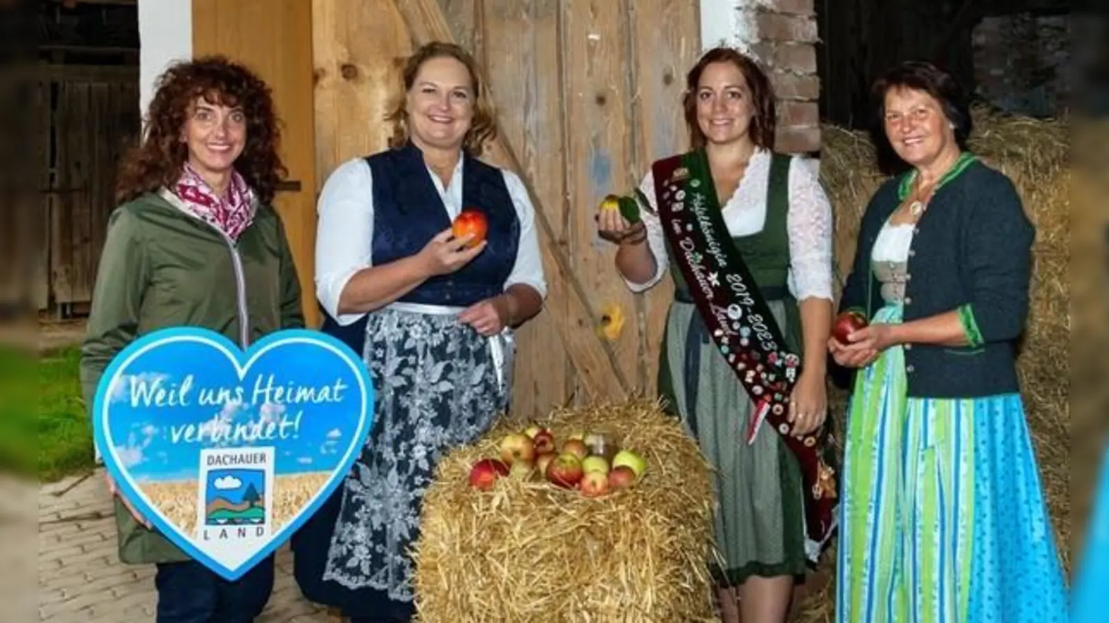
M 837 547 L 843 623 L 1061 622 L 1067 599 L 1015 365 L 1035 229 L 967 150 L 958 83 L 879 80 L 875 143 L 899 170 L 863 215 L 830 340 L 855 369 Z

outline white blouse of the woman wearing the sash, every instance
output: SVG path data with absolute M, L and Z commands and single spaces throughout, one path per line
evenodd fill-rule
M 763 229 L 766 222 L 766 194 L 770 182 L 771 153 L 756 150 L 747 163 L 735 194 L 724 204 L 721 214 L 732 237 L 750 236 Z M 788 175 L 790 210 L 786 231 L 790 237 L 788 287 L 797 300 L 826 298 L 832 300 L 832 205 L 821 186 L 812 160 L 795 157 Z M 658 211 L 654 198 L 654 176 L 647 173 L 640 190 L 651 208 Z M 641 212 L 647 226 L 647 241 L 658 268 L 645 283 L 628 278 L 632 292 L 643 292 L 659 283 L 667 272 L 669 257 L 658 214 Z

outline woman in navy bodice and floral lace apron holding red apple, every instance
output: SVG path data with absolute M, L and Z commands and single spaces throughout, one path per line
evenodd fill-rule
M 413 616 L 424 491 L 444 453 L 507 409 L 510 327 L 546 294 L 522 182 L 477 160 L 495 133 L 477 63 L 429 43 L 403 79 L 390 149 L 339 166 L 319 198 L 324 330 L 363 354 L 375 420 L 345 483 L 296 535 L 296 576 L 353 623 Z M 464 207 L 488 219 L 476 246 L 451 236 Z

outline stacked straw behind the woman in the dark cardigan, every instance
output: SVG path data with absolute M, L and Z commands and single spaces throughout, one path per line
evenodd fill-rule
M 1031 307 L 1018 372 L 1060 554 L 1069 569 L 1070 129 L 1065 120 L 1003 116 L 983 109 L 974 111 L 974 119 L 971 151 L 1013 180 L 1037 229 Z M 821 180 L 835 211 L 838 290 L 855 256 L 863 211 L 886 177 L 876 167 L 867 134 L 825 125 L 823 141 Z M 846 396 L 835 392 L 830 398 L 833 417 L 842 418 Z M 834 562 L 834 555 L 825 558 L 830 575 Z M 816 588 L 798 620 L 831 621 L 828 595 Z

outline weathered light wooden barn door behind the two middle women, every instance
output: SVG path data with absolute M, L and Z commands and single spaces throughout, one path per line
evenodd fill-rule
M 684 149 L 681 92 L 700 52 L 695 0 L 314 0 L 317 172 L 385 147 L 396 60 L 454 40 L 482 64 L 501 136 L 486 157 L 528 184 L 550 293 L 520 334 L 513 410 L 652 395 L 669 279 L 632 295 L 593 213 Z M 406 28 L 407 27 L 407 28 Z M 346 120 L 342 135 L 318 129 Z M 598 330 L 624 316 L 615 336 Z

